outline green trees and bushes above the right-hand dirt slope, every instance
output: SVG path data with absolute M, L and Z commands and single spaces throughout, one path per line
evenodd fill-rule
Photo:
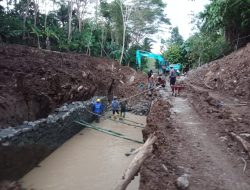
M 178 28 L 162 40 L 163 55 L 188 70 L 223 57 L 250 41 L 250 0 L 211 0 L 196 17 L 198 32 L 183 41 Z

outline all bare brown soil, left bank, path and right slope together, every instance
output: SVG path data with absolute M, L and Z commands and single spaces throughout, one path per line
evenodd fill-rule
M 242 135 L 250 134 L 249 53 L 248 44 L 190 71 L 180 96 L 171 96 L 170 88 L 157 92 L 143 137 L 155 133 L 158 139 L 141 167 L 140 190 L 183 189 L 181 178 L 195 190 L 250 189 L 249 156 L 230 136 L 234 132 L 250 142 Z M 64 102 L 129 97 L 145 89 L 145 75 L 111 60 L 0 47 L 2 127 L 45 117 Z M 140 109 L 150 100 L 141 95 L 130 105 Z

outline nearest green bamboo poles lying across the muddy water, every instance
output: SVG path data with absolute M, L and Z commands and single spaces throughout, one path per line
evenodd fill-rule
M 100 131 L 102 133 L 106 133 L 106 134 L 109 134 L 109 135 L 112 135 L 112 136 L 115 136 L 115 137 L 119 137 L 119 138 L 122 138 L 122 139 L 125 139 L 125 140 L 129 140 L 129 141 L 133 141 L 133 142 L 136 142 L 136 143 L 143 144 L 142 141 L 138 141 L 138 140 L 134 140 L 134 139 L 128 138 L 128 137 L 124 136 L 123 134 L 115 132 L 115 131 L 112 131 L 112 130 L 108 130 L 108 129 L 103 129 L 103 128 L 100 128 L 100 127 L 96 127 L 96 126 L 94 126 L 94 125 L 92 125 L 90 123 L 87 123 L 85 121 L 75 121 L 75 123 L 77 123 L 79 125 L 82 125 L 82 126 L 85 126 L 85 127 L 88 127 L 90 129 L 94 129 L 94 130 Z

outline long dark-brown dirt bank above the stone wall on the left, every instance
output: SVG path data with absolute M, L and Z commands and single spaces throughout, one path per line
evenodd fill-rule
M 139 77 L 138 77 L 139 76 Z M 143 74 L 119 63 L 9 45 L 0 47 L 0 128 L 46 117 L 65 102 L 140 92 Z

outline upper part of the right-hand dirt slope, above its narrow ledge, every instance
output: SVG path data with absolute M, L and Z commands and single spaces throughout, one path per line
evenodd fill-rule
M 250 44 L 188 73 L 192 84 L 250 100 Z

